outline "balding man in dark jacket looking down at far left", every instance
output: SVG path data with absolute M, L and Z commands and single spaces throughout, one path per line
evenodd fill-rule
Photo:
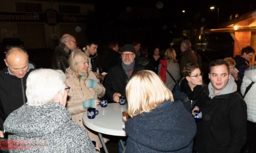
M 0 137 L 3 137 L 3 123 L 6 117 L 27 103 L 26 80 L 35 68 L 29 63 L 25 49 L 10 48 L 5 57 L 6 71 L 0 72 Z

